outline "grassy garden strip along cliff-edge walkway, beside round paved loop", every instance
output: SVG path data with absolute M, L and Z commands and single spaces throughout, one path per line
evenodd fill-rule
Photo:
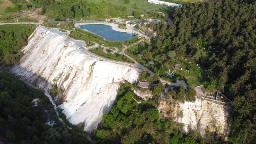
M 117 54 L 117 53 L 111 54 L 110 52 L 108 52 L 108 53 L 106 54 L 106 53 L 104 53 L 102 50 L 103 50 L 103 48 L 100 47 L 100 48 L 90 49 L 89 51 L 90 51 L 90 52 L 93 52 L 93 53 L 95 53 L 95 54 L 97 54 L 97 55 L 100 55 L 100 56 L 102 56 L 102 57 L 111 59 L 111 60 L 118 60 L 118 61 L 124 61 L 124 62 L 134 63 L 132 60 L 130 60 L 129 58 L 125 57 L 124 55 Z

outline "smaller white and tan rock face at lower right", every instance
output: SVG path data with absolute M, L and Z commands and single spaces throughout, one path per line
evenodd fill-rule
M 229 135 L 229 106 L 197 98 L 185 103 L 160 98 L 158 110 L 174 122 L 184 125 L 184 131 L 196 129 L 204 136 L 206 131 L 216 132 L 216 137 L 227 140 Z M 183 116 L 181 116 L 183 114 Z

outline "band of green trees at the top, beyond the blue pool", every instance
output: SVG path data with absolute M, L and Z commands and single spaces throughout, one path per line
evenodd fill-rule
M 87 3 L 81 0 L 31 0 L 35 7 L 53 12 L 55 19 L 106 19 L 106 17 L 119 17 L 126 11 L 125 6 L 118 6 L 106 3 L 104 0 L 100 4 Z

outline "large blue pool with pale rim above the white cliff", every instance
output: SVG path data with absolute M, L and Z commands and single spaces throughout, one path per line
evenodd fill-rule
M 79 28 L 90 31 L 110 41 L 124 41 L 136 36 L 131 33 L 113 30 L 111 26 L 104 24 L 80 25 Z

